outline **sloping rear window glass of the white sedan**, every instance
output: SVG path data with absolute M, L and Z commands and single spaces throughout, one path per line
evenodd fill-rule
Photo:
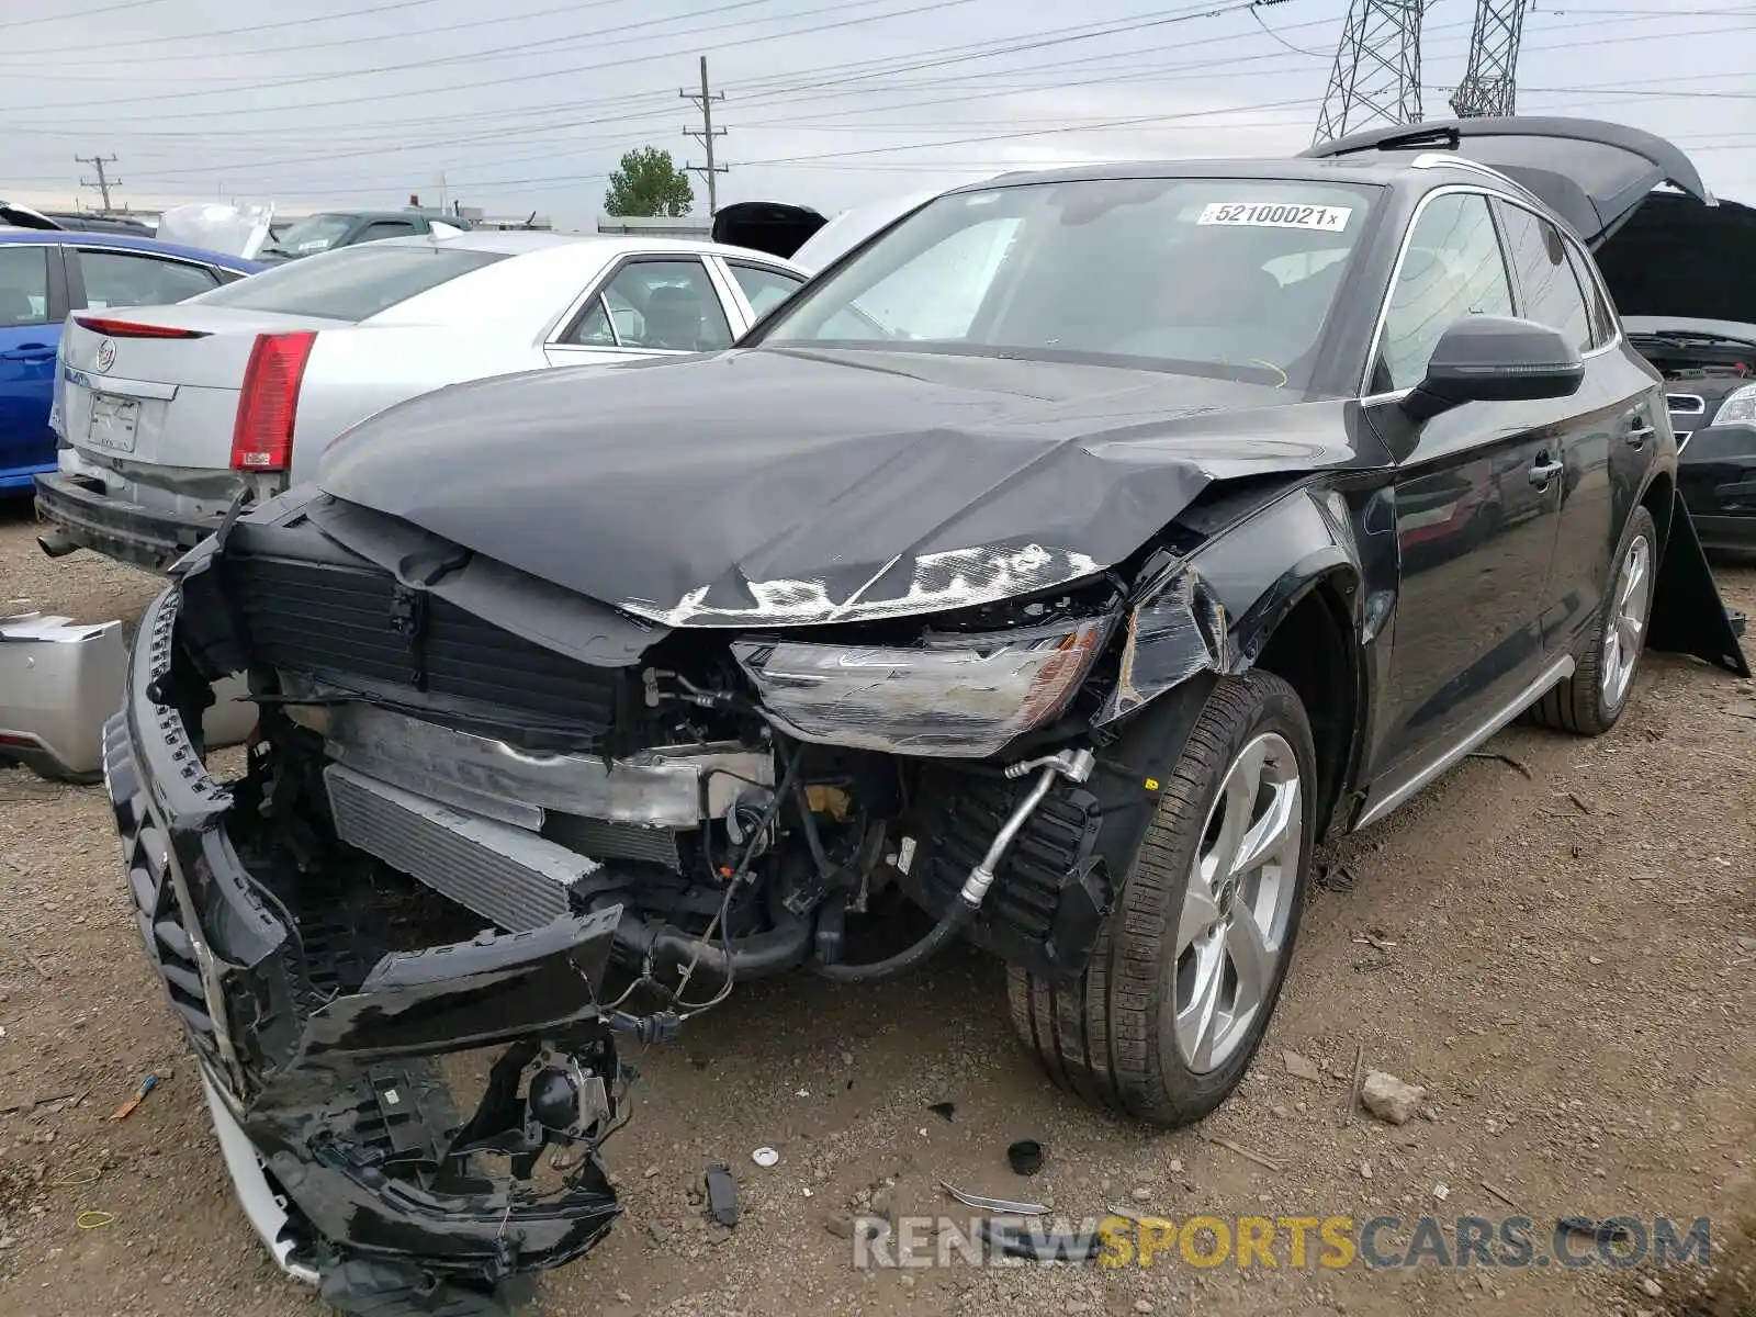
M 506 260 L 502 251 L 386 248 L 369 242 L 276 265 L 216 288 L 198 302 L 241 311 L 360 321 L 500 260 Z

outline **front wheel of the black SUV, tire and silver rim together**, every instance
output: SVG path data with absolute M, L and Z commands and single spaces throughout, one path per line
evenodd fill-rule
M 1136 730 L 1154 732 L 1162 727 L 1152 722 Z M 1252 760 L 1266 752 L 1259 781 L 1280 783 L 1266 802 L 1257 792 L 1247 813 L 1264 818 L 1266 804 L 1287 829 L 1271 855 L 1245 867 L 1241 880 L 1206 883 L 1196 876 L 1198 860 L 1212 867 L 1215 852 L 1243 832 L 1238 813 L 1231 815 L 1231 831 L 1224 825 L 1220 792 L 1240 781 L 1233 771 L 1247 750 Z M 1291 797 L 1287 774 L 1296 774 Z M 1292 959 L 1315 832 L 1315 780 L 1310 722 L 1292 687 L 1268 673 L 1224 678 L 1213 687 L 1175 767 L 1164 774 L 1085 973 L 1057 987 L 1017 968 L 1008 971 L 1013 1026 L 1055 1083 L 1098 1106 L 1166 1127 L 1199 1120 L 1231 1094 L 1263 1041 Z M 1227 792 L 1234 806 L 1243 795 Z M 1212 904 L 1203 904 L 1203 896 Z M 1252 899 L 1263 911 L 1252 925 L 1261 931 L 1266 924 L 1271 936 L 1245 936 Z M 1180 927 L 1185 911 L 1189 929 Z M 1206 925 L 1213 913 L 1220 922 L 1191 939 L 1187 932 Z M 1266 950 L 1266 957 L 1245 955 L 1257 966 L 1250 976 L 1256 1006 L 1245 1011 L 1234 950 L 1252 948 Z M 1180 994 L 1187 999 L 1199 985 L 1217 989 L 1206 1047 L 1199 1031 L 1180 1033 L 1177 1026 Z M 1229 1015 L 1222 1010 L 1227 999 Z

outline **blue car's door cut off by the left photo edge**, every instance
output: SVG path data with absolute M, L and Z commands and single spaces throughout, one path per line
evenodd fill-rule
M 54 351 L 67 277 L 54 242 L 0 242 L 0 488 L 54 469 Z

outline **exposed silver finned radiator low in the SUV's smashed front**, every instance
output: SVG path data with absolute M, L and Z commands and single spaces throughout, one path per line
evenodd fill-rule
M 330 764 L 335 836 L 509 932 L 567 915 L 567 892 L 601 866 L 507 824 L 465 815 Z

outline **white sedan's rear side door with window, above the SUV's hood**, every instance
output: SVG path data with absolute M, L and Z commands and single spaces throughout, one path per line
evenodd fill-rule
M 743 321 L 736 293 L 701 256 L 625 256 L 562 320 L 544 351 L 550 365 L 718 351 Z

